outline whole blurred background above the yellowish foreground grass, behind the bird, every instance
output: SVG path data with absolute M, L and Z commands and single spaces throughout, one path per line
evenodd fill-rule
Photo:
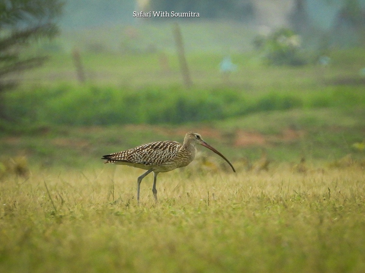
M 191 130 L 245 170 L 362 162 L 364 46 L 365 0 L 4 0 L 0 169 Z

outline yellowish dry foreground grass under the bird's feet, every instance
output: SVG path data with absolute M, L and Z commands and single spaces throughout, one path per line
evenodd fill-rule
M 364 272 L 357 165 L 160 174 L 104 165 L 0 183 L 1 272 Z

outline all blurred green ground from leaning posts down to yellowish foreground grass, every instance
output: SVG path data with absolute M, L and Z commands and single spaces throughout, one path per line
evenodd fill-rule
M 172 55 L 170 71 L 163 72 L 156 70 L 154 53 L 85 53 L 85 67 L 110 74 L 89 72 L 94 75 L 89 83 L 78 84 L 76 75 L 75 82 L 61 80 L 76 74 L 71 57 L 53 54 L 46 67 L 27 74 L 45 75 L 38 85 L 25 81 L 5 93 L 9 121 L 0 122 L 0 152 L 28 155 L 31 164 L 77 168 L 99 165 L 106 153 L 161 139 L 182 141 L 189 130 L 211 128 L 215 133 L 203 133 L 204 139 L 235 160 L 255 160 L 262 148 L 275 162 L 302 156 L 334 161 L 349 153 L 360 159 L 362 152 L 352 145 L 364 140 L 361 54 L 364 50 L 334 51 L 328 66 L 294 69 L 259 66 L 255 57 L 235 54 L 238 71 L 225 79 L 219 55 L 192 53 L 191 90 L 181 87 Z M 118 82 L 118 75 L 128 83 Z

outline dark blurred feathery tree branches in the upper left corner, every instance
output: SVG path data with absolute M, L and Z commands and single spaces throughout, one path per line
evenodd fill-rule
M 58 32 L 54 20 L 62 11 L 60 0 L 16 0 L 0 2 L 0 118 L 3 113 L 2 92 L 17 84 L 9 80 L 15 72 L 40 66 L 45 56 L 29 56 L 29 43 L 39 38 L 53 38 Z

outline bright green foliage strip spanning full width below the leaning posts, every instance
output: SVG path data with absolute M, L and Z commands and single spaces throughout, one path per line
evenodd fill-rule
M 326 87 L 312 93 L 272 91 L 261 96 L 234 88 L 70 87 L 12 92 L 4 109 L 13 121 L 37 124 L 181 124 L 301 108 L 365 105 L 361 87 Z

